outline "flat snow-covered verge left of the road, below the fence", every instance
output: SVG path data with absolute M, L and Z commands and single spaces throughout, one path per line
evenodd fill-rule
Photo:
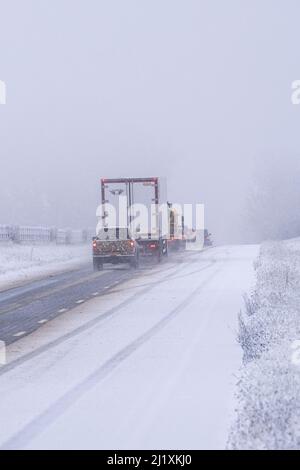
M 72 269 L 90 259 L 87 245 L 0 244 L 0 291 L 15 284 Z

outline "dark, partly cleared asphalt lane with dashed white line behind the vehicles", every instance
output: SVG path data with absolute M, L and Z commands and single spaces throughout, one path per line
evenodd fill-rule
M 89 263 L 1 292 L 0 341 L 9 345 L 58 315 L 149 269 L 149 263 L 138 270 L 117 265 L 94 273 Z

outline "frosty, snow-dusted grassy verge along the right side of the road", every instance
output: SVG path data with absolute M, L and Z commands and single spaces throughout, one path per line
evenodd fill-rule
M 300 448 L 300 239 L 262 245 L 238 339 L 244 367 L 230 449 Z

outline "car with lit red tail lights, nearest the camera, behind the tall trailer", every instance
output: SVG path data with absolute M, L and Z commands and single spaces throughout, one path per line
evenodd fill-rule
M 103 227 L 93 238 L 94 271 L 101 271 L 104 263 L 129 263 L 138 268 L 140 248 L 127 227 Z

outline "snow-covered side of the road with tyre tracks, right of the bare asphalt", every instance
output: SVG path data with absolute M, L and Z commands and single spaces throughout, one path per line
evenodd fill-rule
M 257 254 L 187 253 L 12 345 L 0 369 L 1 447 L 225 448 L 237 313 Z

